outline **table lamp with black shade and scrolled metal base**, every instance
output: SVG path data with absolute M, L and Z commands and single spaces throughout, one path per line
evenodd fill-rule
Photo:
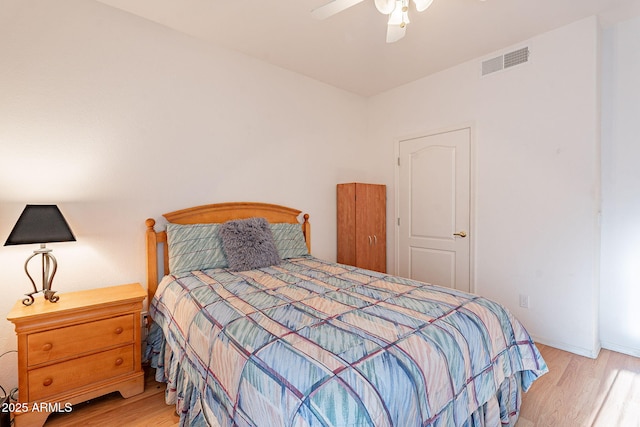
M 46 244 L 51 242 L 72 242 L 76 238 L 69 228 L 69 224 L 62 216 L 60 209 L 56 205 L 27 205 L 18 222 L 11 230 L 5 246 L 9 245 L 25 245 L 39 243 L 40 248 L 33 251 L 24 263 L 24 271 L 33 285 L 33 292 L 25 294 L 28 298 L 22 300 L 24 305 L 31 305 L 34 302 L 33 295 L 39 292 L 44 294 L 44 298 L 50 302 L 56 302 L 60 299 L 54 295 L 55 291 L 51 290 L 53 277 L 56 275 L 58 263 L 51 249 L 47 249 Z M 35 281 L 29 274 L 28 264 L 36 255 L 42 255 L 42 289 L 38 290 Z

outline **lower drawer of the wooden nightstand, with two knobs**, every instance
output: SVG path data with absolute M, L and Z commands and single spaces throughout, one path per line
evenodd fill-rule
M 29 371 L 29 402 L 44 400 L 134 370 L 133 345 Z

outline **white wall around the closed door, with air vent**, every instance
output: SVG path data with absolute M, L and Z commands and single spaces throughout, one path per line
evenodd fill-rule
M 480 77 L 483 59 L 525 45 L 529 63 Z M 597 70 L 589 18 L 372 98 L 368 129 L 391 185 L 400 138 L 472 124 L 475 291 L 539 341 L 589 356 L 599 349 Z

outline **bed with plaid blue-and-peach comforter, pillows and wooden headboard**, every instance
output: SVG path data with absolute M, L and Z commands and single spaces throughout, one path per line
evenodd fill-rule
M 547 366 L 512 314 L 316 258 L 300 214 L 223 203 L 146 221 L 147 356 L 181 425 L 515 424 Z

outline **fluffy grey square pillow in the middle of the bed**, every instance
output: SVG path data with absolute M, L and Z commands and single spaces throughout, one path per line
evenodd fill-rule
M 220 225 L 222 247 L 233 271 L 280 264 L 269 223 L 264 218 L 227 221 Z

